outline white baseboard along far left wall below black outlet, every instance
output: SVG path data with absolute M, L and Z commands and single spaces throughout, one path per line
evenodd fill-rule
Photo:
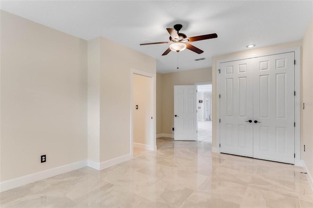
M 0 192 L 7 191 L 13 188 L 22 187 L 27 184 L 34 183 L 36 181 L 44 180 L 62 173 L 66 173 L 72 170 L 76 170 L 87 166 L 87 160 L 79 161 L 76 163 L 71 163 L 64 166 L 54 167 L 41 172 L 25 175 L 19 178 L 11 179 L 8 181 L 3 181 L 0 184 Z

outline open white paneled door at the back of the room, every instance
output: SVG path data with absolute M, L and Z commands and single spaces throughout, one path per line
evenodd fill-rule
M 174 140 L 197 141 L 197 86 L 174 86 Z

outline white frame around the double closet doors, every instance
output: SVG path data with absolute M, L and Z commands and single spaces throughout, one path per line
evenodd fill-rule
M 251 58 L 257 58 L 262 56 L 270 56 L 275 54 L 281 54 L 281 53 L 288 53 L 288 52 L 294 52 L 294 59 L 295 59 L 295 65 L 294 65 L 294 90 L 296 92 L 295 95 L 295 104 L 294 104 L 294 118 L 295 118 L 295 128 L 294 128 L 294 153 L 295 153 L 295 160 L 294 165 L 295 166 L 303 166 L 300 152 L 301 152 L 301 144 L 300 144 L 300 69 L 301 69 L 301 54 L 300 54 L 300 46 L 297 47 L 291 47 L 291 48 L 285 48 L 281 50 L 275 50 L 270 51 L 267 53 L 257 53 L 242 57 L 232 57 L 227 59 L 221 59 L 216 61 L 216 85 L 212 86 L 212 88 L 216 87 L 216 96 L 212 96 L 212 103 L 215 102 L 216 104 L 216 118 L 213 120 L 216 124 L 216 144 L 215 146 L 212 146 L 212 152 L 220 152 L 220 99 L 218 98 L 218 95 L 220 94 L 220 63 L 222 62 L 232 62 L 242 59 L 251 59 Z M 215 99 L 215 101 L 213 100 Z

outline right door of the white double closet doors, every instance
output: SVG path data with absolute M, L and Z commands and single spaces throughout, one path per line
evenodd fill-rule
M 294 52 L 254 64 L 253 156 L 294 164 Z

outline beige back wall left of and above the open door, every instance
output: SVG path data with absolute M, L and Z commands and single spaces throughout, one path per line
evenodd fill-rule
M 162 133 L 173 134 L 174 85 L 193 85 L 210 81 L 212 81 L 211 67 L 162 74 Z

